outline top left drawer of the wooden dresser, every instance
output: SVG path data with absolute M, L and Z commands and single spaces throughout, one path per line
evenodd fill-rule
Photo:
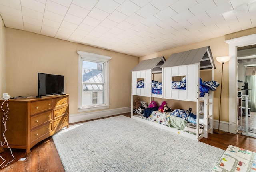
M 42 101 L 36 101 L 31 103 L 31 115 L 34 115 L 36 113 L 51 110 L 52 109 L 52 99 L 42 100 Z

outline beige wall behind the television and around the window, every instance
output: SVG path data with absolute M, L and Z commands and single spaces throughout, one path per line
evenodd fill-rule
M 130 71 L 138 57 L 10 28 L 6 28 L 6 92 L 11 97 L 38 95 L 38 73 L 64 75 L 70 114 L 78 114 L 77 50 L 112 57 L 110 109 L 130 107 Z

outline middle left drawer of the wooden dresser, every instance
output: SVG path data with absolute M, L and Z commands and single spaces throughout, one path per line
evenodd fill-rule
M 52 111 L 34 115 L 30 117 L 30 127 L 31 129 L 37 127 L 38 125 L 42 123 L 46 123 L 48 121 L 52 120 Z

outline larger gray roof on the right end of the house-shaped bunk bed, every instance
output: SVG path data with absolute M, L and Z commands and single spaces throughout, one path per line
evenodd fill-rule
M 192 49 L 180 53 L 174 53 L 166 60 L 161 68 L 190 65 L 196 63 L 200 63 L 200 70 L 216 68 L 210 46 Z

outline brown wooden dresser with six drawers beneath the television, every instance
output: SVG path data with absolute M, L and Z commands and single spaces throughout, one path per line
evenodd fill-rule
M 38 142 L 52 136 L 68 124 L 69 94 L 45 96 L 42 98 L 9 99 L 3 102 L 3 109 L 7 111 L 5 137 L 10 148 L 26 149 L 26 155 Z M 0 141 L 4 142 L 5 131 L 3 118 L 6 120 L 4 111 L 1 110 Z M 7 147 L 4 144 L 3 147 Z

